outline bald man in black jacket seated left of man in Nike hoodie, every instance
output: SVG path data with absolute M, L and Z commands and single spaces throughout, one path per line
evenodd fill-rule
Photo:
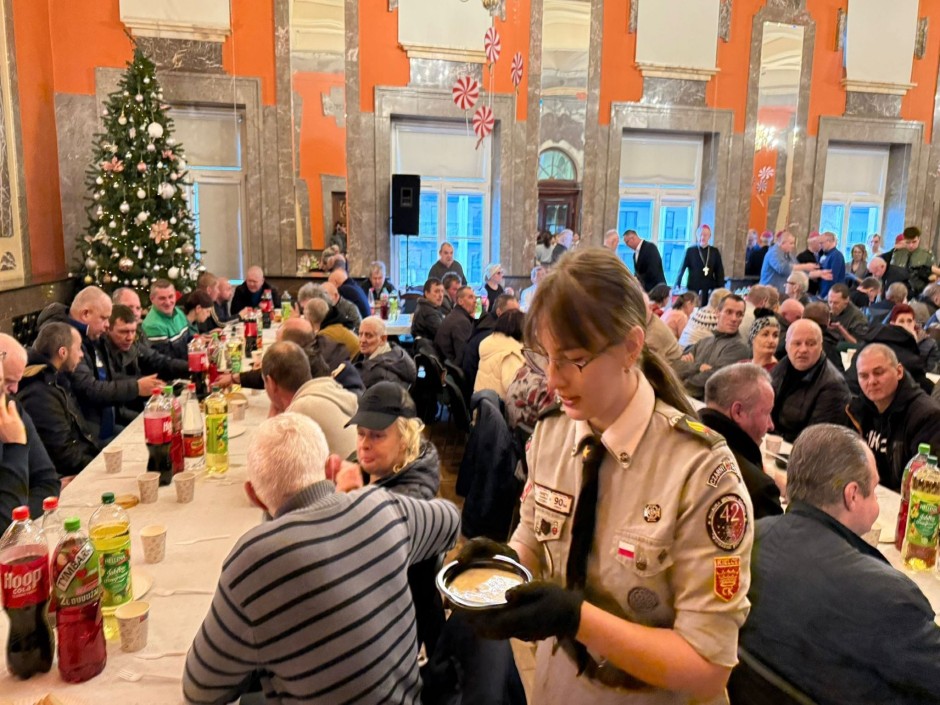
M 817 423 L 845 423 L 852 398 L 845 377 L 823 354 L 822 329 L 801 318 L 787 329 L 787 356 L 771 373 L 773 423 L 792 443 L 803 429 Z

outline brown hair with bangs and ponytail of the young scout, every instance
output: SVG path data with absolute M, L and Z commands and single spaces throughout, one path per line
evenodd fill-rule
M 643 291 L 630 270 L 602 247 L 576 250 L 539 284 L 526 315 L 526 345 L 540 348 L 538 330 L 546 325 L 563 348 L 596 354 L 626 338 L 639 326 L 646 331 Z M 694 415 L 672 369 L 644 343 L 640 370 L 656 397 Z

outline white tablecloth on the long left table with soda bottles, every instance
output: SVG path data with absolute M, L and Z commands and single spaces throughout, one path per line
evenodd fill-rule
M 268 331 L 265 331 L 268 334 Z M 267 342 L 268 335 L 265 335 Z M 273 340 L 273 338 L 272 338 Z M 260 523 L 261 511 L 253 507 L 245 495 L 247 479 L 246 456 L 248 441 L 268 413 L 264 392 L 246 392 L 249 404 L 244 422 L 232 428 L 241 435 L 230 439 L 229 471 L 222 479 L 204 474 L 196 479 L 195 499 L 178 504 L 172 485 L 161 487 L 155 504 L 138 504 L 128 510 L 131 520 L 131 563 L 135 575 L 146 574 L 153 587 L 141 599 L 150 603 L 150 637 L 142 653 L 187 651 L 212 600 L 206 595 L 173 595 L 159 597 L 157 589 L 198 588 L 214 591 L 222 562 L 238 538 Z M 108 475 L 104 458 L 98 456 L 62 492 L 64 516 L 78 516 L 82 528 L 98 506 L 102 492 L 138 494 L 136 476 L 146 470 L 147 449 L 144 445 L 143 419 L 138 417 L 114 444 L 124 448 L 124 466 L 120 474 Z M 161 563 L 143 562 L 140 529 L 148 524 L 165 524 L 167 530 L 166 558 Z M 178 541 L 199 537 L 226 535 L 217 541 L 180 546 Z M 5 645 L 9 621 L 0 617 L 0 644 Z M 90 681 L 72 685 L 59 676 L 58 667 L 42 676 L 19 681 L 6 672 L 6 658 L 0 658 L 0 698 L 12 699 L 17 705 L 30 705 L 49 692 L 62 697 L 67 705 L 173 705 L 182 703 L 180 681 L 144 678 L 131 683 L 118 678 L 118 671 L 130 669 L 138 673 L 158 673 L 181 679 L 185 657 L 173 656 L 155 661 L 141 660 L 121 651 L 120 639 L 108 642 L 108 665 Z

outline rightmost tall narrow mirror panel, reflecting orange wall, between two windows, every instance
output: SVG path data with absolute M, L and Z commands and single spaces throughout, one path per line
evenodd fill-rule
M 773 232 L 789 222 L 793 154 L 800 139 L 803 33 L 799 25 L 763 23 L 751 223 Z

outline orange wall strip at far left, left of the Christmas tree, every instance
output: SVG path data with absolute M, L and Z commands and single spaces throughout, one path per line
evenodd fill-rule
M 66 272 L 49 6 L 40 0 L 15 0 L 13 22 L 26 181 L 26 213 L 22 216 L 29 226 L 32 274 L 41 281 Z

